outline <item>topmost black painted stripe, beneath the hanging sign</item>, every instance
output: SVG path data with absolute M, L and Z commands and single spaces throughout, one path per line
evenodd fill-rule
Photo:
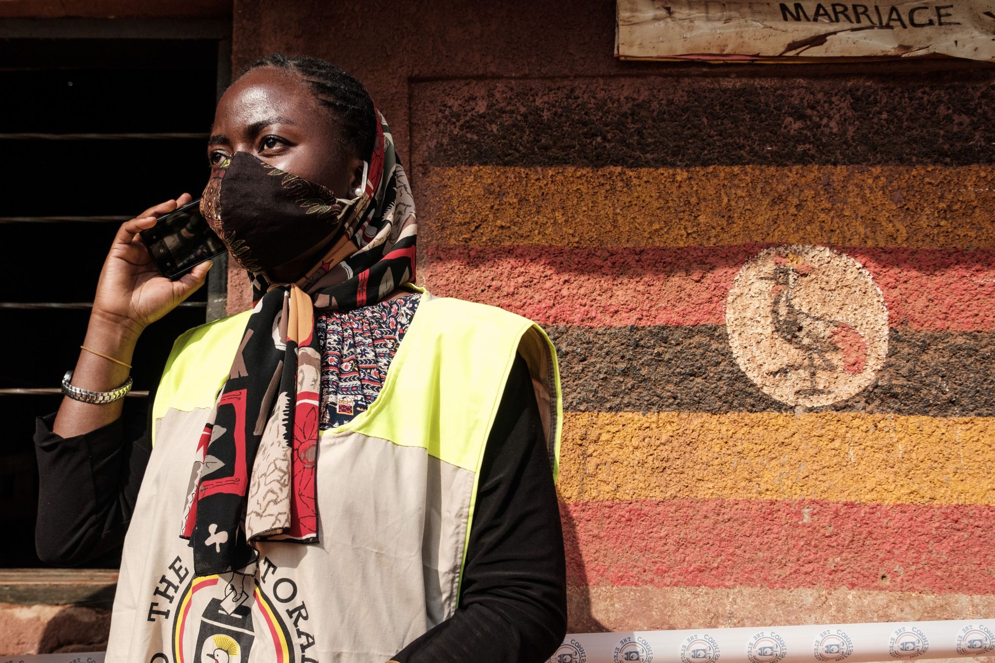
M 420 83 L 419 166 L 995 162 L 995 71 Z

